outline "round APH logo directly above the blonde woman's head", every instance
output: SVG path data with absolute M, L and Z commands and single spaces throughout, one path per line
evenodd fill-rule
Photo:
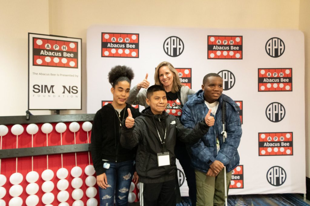
M 170 57 L 178 57 L 184 50 L 183 41 L 177 36 L 170 36 L 164 41 L 164 51 Z

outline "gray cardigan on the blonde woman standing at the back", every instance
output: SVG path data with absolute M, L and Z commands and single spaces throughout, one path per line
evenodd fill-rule
M 148 107 L 146 104 L 146 91 L 147 89 L 137 89 L 137 85 L 131 88 L 130 95 L 126 101 L 126 103 L 133 104 L 133 105 L 141 105 L 144 107 Z M 182 86 L 181 87 L 181 102 L 183 105 L 187 102 L 187 95 L 193 95 L 196 92 L 194 90 L 191 90 L 188 86 Z

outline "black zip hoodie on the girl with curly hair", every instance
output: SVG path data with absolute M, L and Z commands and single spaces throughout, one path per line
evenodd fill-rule
M 112 162 L 135 159 L 135 149 L 125 149 L 119 144 L 121 136 L 119 119 L 121 121 L 123 117 L 126 119 L 128 116 L 127 108 L 130 108 L 133 118 L 140 115 L 137 109 L 127 103 L 120 113 L 121 117 L 118 117 L 118 112 L 112 104 L 107 104 L 96 112 L 91 130 L 91 158 L 97 175 L 106 171 L 103 168 L 103 159 Z

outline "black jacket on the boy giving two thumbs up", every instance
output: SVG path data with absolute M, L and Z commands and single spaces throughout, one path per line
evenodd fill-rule
M 124 123 L 124 121 L 122 122 Z M 162 145 L 158 137 L 162 138 Z M 166 139 L 164 133 L 166 130 Z M 193 129 L 185 128 L 179 119 L 162 114 L 154 115 L 150 107 L 141 112 L 141 116 L 135 118 L 133 128 L 126 128 L 122 124 L 121 144 L 124 148 L 131 149 L 138 145 L 136 154 L 136 170 L 139 181 L 142 183 L 162 183 L 175 179 L 175 141 L 194 144 L 208 132 L 209 127 L 204 120 L 199 122 Z M 157 153 L 169 152 L 170 165 L 158 166 Z

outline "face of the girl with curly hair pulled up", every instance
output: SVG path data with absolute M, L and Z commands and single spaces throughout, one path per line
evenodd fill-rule
M 129 97 L 130 83 L 127 81 L 118 82 L 111 88 L 113 94 L 113 104 L 120 107 L 125 104 Z

